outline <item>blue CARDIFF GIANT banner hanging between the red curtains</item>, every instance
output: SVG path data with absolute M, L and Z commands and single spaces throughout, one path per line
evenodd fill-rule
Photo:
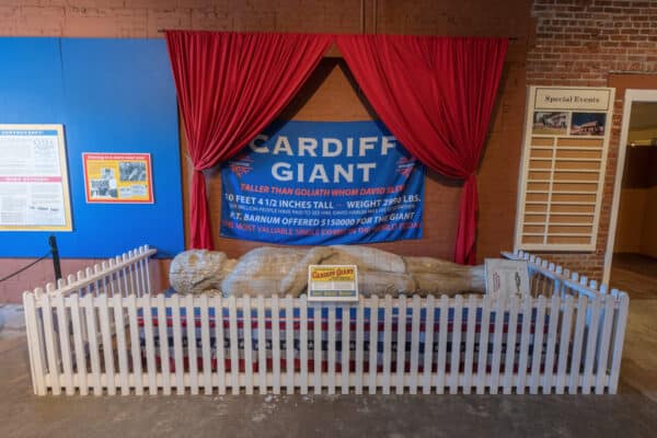
M 422 238 L 424 168 L 380 122 L 280 122 L 221 169 L 221 235 L 288 245 Z

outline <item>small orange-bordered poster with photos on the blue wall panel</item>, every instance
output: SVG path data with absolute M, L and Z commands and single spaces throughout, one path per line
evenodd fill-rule
M 82 153 L 87 203 L 152 204 L 150 153 Z

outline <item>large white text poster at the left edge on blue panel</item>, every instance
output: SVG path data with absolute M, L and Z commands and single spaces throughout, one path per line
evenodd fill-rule
M 71 231 L 62 125 L 0 125 L 0 231 Z

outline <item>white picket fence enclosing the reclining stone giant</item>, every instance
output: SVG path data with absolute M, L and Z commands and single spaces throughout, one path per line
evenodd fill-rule
M 531 257 L 537 298 L 150 293 L 143 246 L 24 293 L 34 392 L 615 393 L 627 295 Z M 507 254 L 529 258 L 528 254 Z

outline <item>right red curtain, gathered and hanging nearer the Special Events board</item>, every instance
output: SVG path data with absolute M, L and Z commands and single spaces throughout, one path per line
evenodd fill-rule
M 476 169 L 508 39 L 341 35 L 337 45 L 400 142 L 434 171 L 464 180 L 454 261 L 474 264 Z

